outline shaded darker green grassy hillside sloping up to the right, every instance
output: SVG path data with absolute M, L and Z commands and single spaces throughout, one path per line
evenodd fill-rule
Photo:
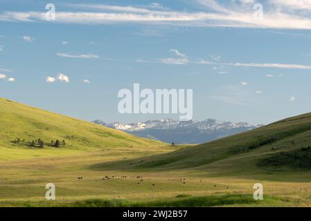
M 254 131 L 240 133 L 206 144 L 184 148 L 172 153 L 144 157 L 127 162 L 104 164 L 108 168 L 126 166 L 130 169 L 202 169 L 215 165 L 231 173 L 233 169 L 247 171 L 262 166 L 261 160 L 289 151 L 300 151 L 311 146 L 311 113 L 291 117 Z M 303 153 L 307 154 L 308 151 Z M 302 154 L 303 154 L 302 153 Z M 297 154 L 286 155 L 286 160 L 297 160 Z M 290 160 L 289 157 L 294 159 Z M 296 157 L 296 158 L 295 158 Z M 305 157 L 308 159 L 308 157 Z M 305 160 L 305 158 L 303 158 Z M 274 158 L 272 158 L 273 160 Z M 280 157 L 277 157 L 280 161 Z M 300 157 L 301 159 L 301 157 Z M 266 162 L 271 162 L 271 160 Z M 283 164 L 286 162 L 283 162 Z M 271 163 L 270 163 L 271 164 Z M 226 167 L 228 165 L 228 167 Z M 247 165 L 247 166 L 245 166 Z

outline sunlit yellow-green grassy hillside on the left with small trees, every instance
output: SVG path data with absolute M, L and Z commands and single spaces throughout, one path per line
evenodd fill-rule
M 74 153 L 77 150 L 166 145 L 8 99 L 0 98 L 0 106 L 0 160 L 28 154 L 44 155 L 41 149 L 38 150 L 38 143 L 35 146 L 30 144 L 39 139 L 44 141 L 44 152 L 50 155 Z M 60 148 L 55 148 L 51 144 L 52 140 L 60 140 Z M 65 145 L 62 144 L 63 140 Z M 16 148 L 19 150 L 15 151 Z

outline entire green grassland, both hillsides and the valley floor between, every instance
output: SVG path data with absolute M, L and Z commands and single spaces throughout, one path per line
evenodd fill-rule
M 311 114 L 170 146 L 0 104 L 0 206 L 311 206 Z M 28 145 L 37 139 L 44 148 Z M 51 140 L 66 144 L 56 148 Z M 258 182 L 260 201 L 253 199 Z M 47 183 L 55 184 L 56 200 L 45 199 Z

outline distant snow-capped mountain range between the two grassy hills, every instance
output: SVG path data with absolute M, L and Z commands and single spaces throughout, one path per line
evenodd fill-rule
M 119 122 L 106 124 L 96 119 L 93 123 L 141 137 L 169 143 L 174 142 L 175 144 L 199 144 L 263 126 L 263 124 L 249 124 L 245 122 L 223 122 L 211 118 L 202 122 L 156 119 L 132 124 L 122 124 Z

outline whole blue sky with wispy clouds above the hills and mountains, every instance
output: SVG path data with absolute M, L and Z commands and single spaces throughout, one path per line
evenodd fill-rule
M 46 21 L 47 3 L 55 21 Z M 254 17 L 256 3 L 263 17 Z M 118 90 L 134 83 L 193 89 L 197 120 L 266 124 L 311 111 L 310 1 L 0 6 L 1 97 L 105 122 L 178 119 L 119 114 Z

